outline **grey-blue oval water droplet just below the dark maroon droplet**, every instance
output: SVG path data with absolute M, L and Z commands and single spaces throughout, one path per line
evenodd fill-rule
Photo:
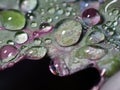
M 100 43 L 103 40 L 105 40 L 105 35 L 101 32 L 92 32 L 88 38 L 87 38 L 87 43 L 95 44 L 95 43 Z

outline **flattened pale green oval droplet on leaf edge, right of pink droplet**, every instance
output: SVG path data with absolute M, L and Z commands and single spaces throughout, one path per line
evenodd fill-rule
M 43 58 L 47 53 L 47 49 L 42 46 L 33 46 L 26 51 L 28 59 L 39 60 Z

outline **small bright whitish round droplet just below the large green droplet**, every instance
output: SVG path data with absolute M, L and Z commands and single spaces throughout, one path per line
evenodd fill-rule
M 17 32 L 15 34 L 15 42 L 18 44 L 23 44 L 28 40 L 28 34 L 25 32 Z

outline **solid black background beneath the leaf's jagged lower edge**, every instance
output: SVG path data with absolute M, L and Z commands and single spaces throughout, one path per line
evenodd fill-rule
M 58 77 L 49 71 L 50 59 L 22 60 L 0 72 L 0 90 L 90 90 L 100 76 L 94 68 L 88 68 L 71 76 Z

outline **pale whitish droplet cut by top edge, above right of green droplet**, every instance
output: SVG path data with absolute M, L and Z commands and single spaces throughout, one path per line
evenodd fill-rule
M 37 0 L 21 0 L 20 9 L 24 12 L 29 12 L 37 7 Z

